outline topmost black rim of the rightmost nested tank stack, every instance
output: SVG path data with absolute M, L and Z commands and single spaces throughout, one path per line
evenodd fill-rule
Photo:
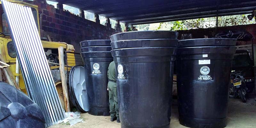
M 230 38 L 206 38 L 180 40 L 178 47 L 201 47 L 201 46 L 235 46 L 236 39 Z

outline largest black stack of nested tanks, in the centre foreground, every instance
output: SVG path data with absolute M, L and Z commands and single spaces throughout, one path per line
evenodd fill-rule
M 177 36 L 173 31 L 111 36 L 121 128 L 169 128 Z

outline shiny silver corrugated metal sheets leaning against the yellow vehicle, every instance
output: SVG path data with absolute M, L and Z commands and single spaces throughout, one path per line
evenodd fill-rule
M 42 109 L 46 127 L 63 120 L 55 88 L 31 8 L 1 0 L 29 97 Z

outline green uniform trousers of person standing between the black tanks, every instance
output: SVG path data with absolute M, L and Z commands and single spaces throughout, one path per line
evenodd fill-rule
M 116 83 L 108 82 L 110 116 L 119 118 Z

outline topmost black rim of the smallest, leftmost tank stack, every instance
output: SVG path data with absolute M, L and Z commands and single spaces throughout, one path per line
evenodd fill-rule
M 110 40 L 85 40 L 81 41 L 81 47 L 89 47 L 89 46 L 110 46 Z

